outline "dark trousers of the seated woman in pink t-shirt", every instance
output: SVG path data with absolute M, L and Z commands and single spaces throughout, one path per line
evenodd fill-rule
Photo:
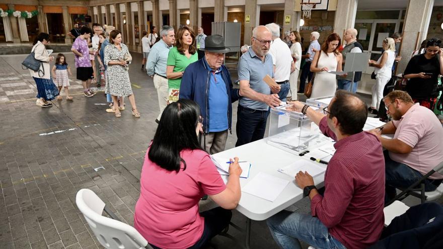
M 216 207 L 200 213 L 204 217 L 203 234 L 200 239 L 188 249 L 197 249 L 203 247 L 211 238 L 223 231 L 231 221 L 232 211 L 221 207 Z M 154 249 L 161 249 L 155 245 L 150 244 Z

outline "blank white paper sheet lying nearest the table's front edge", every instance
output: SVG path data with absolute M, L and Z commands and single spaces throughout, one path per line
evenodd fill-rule
M 242 188 L 242 192 L 273 202 L 288 183 L 288 180 L 260 172 Z

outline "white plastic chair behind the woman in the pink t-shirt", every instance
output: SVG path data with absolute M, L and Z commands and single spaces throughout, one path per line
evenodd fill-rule
M 104 247 L 109 249 L 152 249 L 134 227 L 119 221 L 114 213 L 107 210 L 105 203 L 92 190 L 81 189 L 77 192 L 76 203 Z M 113 218 L 102 216 L 103 211 Z

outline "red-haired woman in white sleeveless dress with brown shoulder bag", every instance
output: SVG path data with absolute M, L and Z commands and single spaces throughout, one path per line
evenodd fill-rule
M 322 44 L 322 49 L 316 51 L 311 64 L 311 72 L 315 72 L 311 98 L 333 96 L 337 89 L 335 74 L 329 71 L 341 71 L 343 57 L 337 47 L 341 43 L 340 36 L 332 33 Z M 315 63 L 317 61 L 317 63 Z

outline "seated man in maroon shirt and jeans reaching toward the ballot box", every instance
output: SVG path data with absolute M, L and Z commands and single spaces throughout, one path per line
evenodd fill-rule
M 321 196 L 308 173 L 299 172 L 297 185 L 311 199 L 311 215 L 283 210 L 267 220 L 281 248 L 365 248 L 376 242 L 384 225 L 385 160 L 377 136 L 362 131 L 367 106 L 354 94 L 337 91 L 323 112 L 291 102 L 326 136 L 336 149 L 325 173 Z M 324 113 L 324 114 L 323 114 Z

